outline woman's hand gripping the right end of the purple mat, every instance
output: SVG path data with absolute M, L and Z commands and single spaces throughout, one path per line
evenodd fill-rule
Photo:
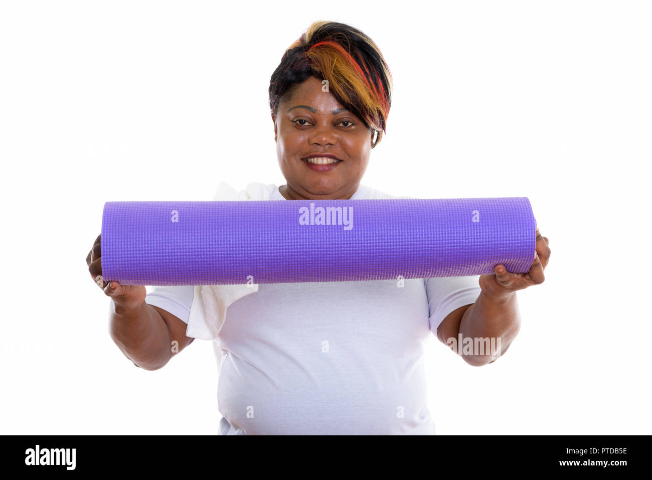
M 499 263 L 494 267 L 495 275 L 481 275 L 480 288 L 491 299 L 499 300 L 509 297 L 516 290 L 523 290 L 532 285 L 543 283 L 545 279 L 543 270 L 550 259 L 550 247 L 548 238 L 542 237 L 539 227 L 535 232 L 537 243 L 535 247 L 534 261 L 527 273 L 509 273 L 505 265 Z

